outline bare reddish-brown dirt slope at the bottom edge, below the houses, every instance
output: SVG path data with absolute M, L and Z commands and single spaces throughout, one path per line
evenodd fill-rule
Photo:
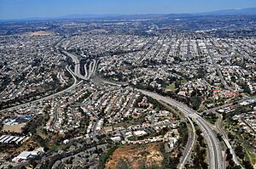
M 161 167 L 164 160 L 160 152 L 160 144 L 146 145 L 125 145 L 116 149 L 109 157 L 105 168 L 150 168 L 153 166 Z

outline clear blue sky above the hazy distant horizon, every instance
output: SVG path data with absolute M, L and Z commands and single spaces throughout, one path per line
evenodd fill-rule
M 0 0 L 0 20 L 69 14 L 188 14 L 253 7 L 256 0 Z

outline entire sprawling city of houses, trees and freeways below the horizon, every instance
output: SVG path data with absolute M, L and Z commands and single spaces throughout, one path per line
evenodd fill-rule
M 0 168 L 256 168 L 256 15 L 0 23 Z

